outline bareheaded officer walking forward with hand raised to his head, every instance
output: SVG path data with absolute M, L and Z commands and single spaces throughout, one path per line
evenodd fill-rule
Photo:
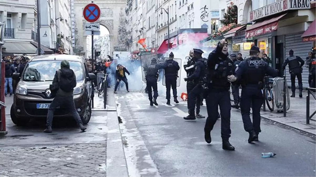
M 216 123 L 219 106 L 222 117 L 222 148 L 229 151 L 235 150 L 235 147 L 229 143 L 231 134 L 229 87 L 230 82 L 236 79 L 233 75 L 234 69 L 234 63 L 228 57 L 227 40 L 222 39 L 216 49 L 209 54 L 207 62 L 209 95 L 206 99 L 208 117 L 204 127 L 204 139 L 207 143 L 212 141 L 210 133 Z

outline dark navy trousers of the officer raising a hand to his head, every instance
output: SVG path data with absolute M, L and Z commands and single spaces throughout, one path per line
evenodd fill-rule
M 231 134 L 230 129 L 230 94 L 229 91 L 225 90 L 209 90 L 209 96 L 206 98 L 206 109 L 207 118 L 205 122 L 205 131 L 211 131 L 214 128 L 216 120 L 218 118 L 218 106 L 221 112 L 221 136 L 222 140 L 226 141 L 229 139 Z

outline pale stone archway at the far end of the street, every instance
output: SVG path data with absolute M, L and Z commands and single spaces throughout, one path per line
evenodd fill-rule
M 105 26 L 110 33 L 110 55 L 113 54 L 113 49 L 115 46 L 118 45 L 118 28 L 120 11 L 124 11 L 126 6 L 126 0 L 94 0 L 95 4 L 97 4 L 101 9 L 101 16 L 99 19 L 99 23 L 102 26 Z M 84 7 L 91 3 L 88 0 L 75 0 L 74 2 L 74 9 L 76 14 L 76 29 L 78 31 L 76 37 L 79 38 L 78 41 L 80 47 L 83 48 L 84 51 L 89 49 L 87 48 L 87 35 L 85 35 L 85 24 L 87 23 L 86 20 L 83 18 L 83 9 Z M 125 13 L 124 13 L 125 14 Z M 77 44 L 76 44 L 77 45 Z M 90 49 L 91 50 L 91 49 Z M 86 54 L 85 54 L 86 56 Z M 87 57 L 87 56 L 86 56 Z

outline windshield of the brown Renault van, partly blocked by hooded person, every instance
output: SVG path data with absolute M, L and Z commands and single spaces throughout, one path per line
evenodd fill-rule
M 42 60 L 31 61 L 27 64 L 24 73 L 22 75 L 23 81 L 52 81 L 55 76 L 55 72 L 60 69 L 61 61 L 56 60 Z M 76 74 L 76 80 L 82 81 L 84 71 L 81 62 L 69 61 L 70 69 Z

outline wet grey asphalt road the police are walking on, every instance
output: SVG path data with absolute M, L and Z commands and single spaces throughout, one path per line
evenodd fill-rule
M 139 92 L 117 94 L 125 156 L 131 176 L 163 177 L 284 177 L 316 176 L 316 138 L 262 120 L 259 142 L 249 144 L 239 110 L 231 111 L 232 136 L 236 151 L 222 150 L 220 122 L 212 131 L 212 143 L 204 141 L 204 119 L 185 121 L 186 102 L 149 106 Z M 206 107 L 201 108 L 206 115 Z M 274 152 L 273 158 L 261 158 Z

